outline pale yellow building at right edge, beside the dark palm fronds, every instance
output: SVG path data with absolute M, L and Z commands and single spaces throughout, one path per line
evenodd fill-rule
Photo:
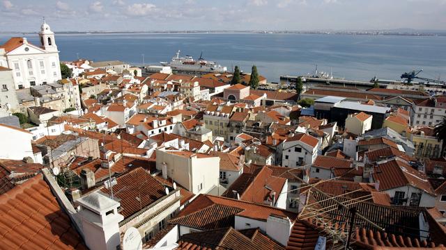
M 410 139 L 415 146 L 415 157 L 417 158 L 439 158 L 443 140 L 438 142 L 433 128 L 424 127 L 412 131 Z

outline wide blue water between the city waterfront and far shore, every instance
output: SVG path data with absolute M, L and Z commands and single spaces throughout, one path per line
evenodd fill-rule
M 3 43 L 10 35 L 0 35 Z M 27 35 L 38 44 L 37 35 Z M 268 81 L 280 75 L 319 71 L 335 77 L 369 81 L 373 76 L 396 80 L 403 72 L 424 69 L 420 76 L 446 76 L 446 37 L 305 35 L 252 33 L 192 34 L 56 34 L 61 60 L 80 58 L 123 60 L 142 65 L 169 61 L 178 49 L 182 55 L 215 60 L 231 69 L 239 65 L 251 72 L 256 65 Z

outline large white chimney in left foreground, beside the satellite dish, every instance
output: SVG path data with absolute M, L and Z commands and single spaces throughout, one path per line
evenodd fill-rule
M 112 250 L 121 245 L 118 214 L 121 204 L 98 192 L 77 199 L 84 241 L 89 249 Z

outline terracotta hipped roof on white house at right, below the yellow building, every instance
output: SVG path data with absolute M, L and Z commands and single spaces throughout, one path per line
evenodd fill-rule
M 375 167 L 372 176 L 380 182 L 380 190 L 390 190 L 392 188 L 411 185 L 428 194 L 436 195 L 435 190 L 433 190 L 431 183 L 429 183 L 424 173 L 413 169 L 410 165 L 399 159 L 381 163 L 378 167 Z

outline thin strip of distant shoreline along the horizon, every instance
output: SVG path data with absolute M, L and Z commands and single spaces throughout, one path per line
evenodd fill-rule
M 114 35 L 114 34 L 312 34 L 312 35 L 400 35 L 418 37 L 445 37 L 446 31 L 55 31 L 59 35 Z M 36 32 L 1 31 L 0 34 L 36 34 Z

